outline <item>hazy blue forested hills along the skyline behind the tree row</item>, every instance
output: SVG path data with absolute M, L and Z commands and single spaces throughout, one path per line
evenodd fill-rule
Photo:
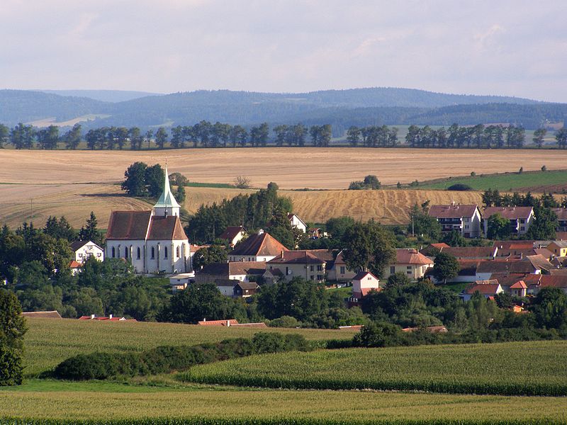
M 66 92 L 60 92 L 66 93 Z M 96 91 L 98 93 L 98 91 Z M 95 93 L 95 94 L 96 94 Z M 88 95 L 89 91 L 69 94 Z M 99 96 L 99 98 L 105 98 Z M 124 92 L 125 96 L 138 96 Z M 108 94 L 106 99 L 117 97 Z M 94 94 L 93 94 L 94 96 Z M 193 125 L 201 120 L 256 125 L 268 122 L 331 124 L 335 135 L 350 125 L 461 125 L 515 123 L 537 128 L 563 120 L 567 106 L 505 96 L 440 94 L 415 89 L 370 88 L 271 94 L 247 91 L 191 91 L 103 102 L 37 91 L 0 91 L 0 123 L 16 125 L 82 117 L 84 128 Z M 94 116 L 96 115 L 96 116 Z M 89 121 L 86 121 L 89 119 Z

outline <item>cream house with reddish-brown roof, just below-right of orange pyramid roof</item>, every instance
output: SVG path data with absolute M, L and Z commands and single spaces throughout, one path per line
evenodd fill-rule
M 326 250 L 314 250 L 325 251 Z M 323 254 L 323 253 L 321 253 Z M 332 256 L 331 256 L 332 259 Z M 315 282 L 325 281 L 327 261 L 321 259 L 314 252 L 309 250 L 281 251 L 279 256 L 266 263 L 266 272 L 270 274 L 274 269 L 279 269 L 281 275 L 289 281 L 295 277 Z M 269 278 L 269 276 L 266 276 Z

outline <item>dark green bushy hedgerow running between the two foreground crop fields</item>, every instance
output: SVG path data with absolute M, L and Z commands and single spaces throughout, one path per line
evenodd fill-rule
M 252 339 L 225 339 L 196 346 L 159 346 L 142 353 L 79 354 L 57 365 L 53 376 L 69 380 L 104 380 L 116 376 L 155 375 L 252 354 L 310 349 L 302 335 L 259 332 Z

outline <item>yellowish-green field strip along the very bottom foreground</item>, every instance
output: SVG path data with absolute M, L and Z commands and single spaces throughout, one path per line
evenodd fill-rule
M 329 419 L 332 421 L 459 420 L 472 423 L 567 419 L 565 397 L 502 397 L 401 392 L 169 389 L 65 382 L 32 383 L 33 391 L 0 390 L 0 418 Z M 89 386 L 94 390 L 89 390 Z M 1 421 L 0 421 L 1 422 Z M 189 421 L 188 421 L 189 423 Z

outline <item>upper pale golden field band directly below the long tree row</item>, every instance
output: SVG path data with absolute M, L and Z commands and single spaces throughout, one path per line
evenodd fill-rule
M 562 169 L 567 151 L 372 148 L 167 149 L 154 151 L 0 152 L 0 183 L 93 183 L 121 181 L 135 161 L 169 164 L 191 181 L 230 183 L 248 176 L 255 187 L 275 181 L 281 188 L 347 188 L 376 174 L 384 184 L 447 176 Z

